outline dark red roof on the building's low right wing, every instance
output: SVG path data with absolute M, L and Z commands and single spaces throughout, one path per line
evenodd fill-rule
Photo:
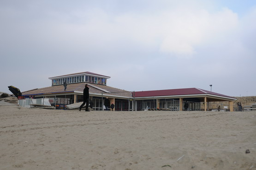
M 152 91 L 140 91 L 132 92 L 132 97 L 153 97 L 153 96 L 174 96 L 174 95 L 192 95 L 192 94 L 213 94 L 223 97 L 230 97 L 224 94 L 218 94 L 200 88 L 179 88 L 169 90 L 152 90 Z M 231 97 L 232 98 L 232 97 Z

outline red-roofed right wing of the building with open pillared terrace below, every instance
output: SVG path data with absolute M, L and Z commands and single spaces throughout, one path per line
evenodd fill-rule
M 190 110 L 203 110 L 208 111 L 210 102 L 214 101 L 228 101 L 229 109 L 233 111 L 234 97 L 224 94 L 214 93 L 200 88 L 180 88 L 168 90 L 153 90 L 153 91 L 138 91 L 132 92 L 132 97 L 136 100 L 137 110 L 148 108 L 162 108 L 173 111 L 184 110 L 184 102 L 190 103 Z

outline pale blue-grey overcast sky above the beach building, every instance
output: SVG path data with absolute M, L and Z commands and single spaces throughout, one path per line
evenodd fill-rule
M 0 92 L 90 71 L 128 91 L 256 96 L 255 0 L 1 0 Z

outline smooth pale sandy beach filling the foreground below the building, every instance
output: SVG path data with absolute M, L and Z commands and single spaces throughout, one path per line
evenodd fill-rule
M 256 111 L 0 106 L 0 141 L 1 170 L 256 170 Z

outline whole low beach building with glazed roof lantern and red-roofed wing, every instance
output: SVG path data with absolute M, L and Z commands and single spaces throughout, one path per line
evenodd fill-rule
M 49 78 L 51 86 L 22 92 L 22 96 L 34 99 L 49 98 L 53 105 L 56 104 L 56 99 L 68 99 L 69 104 L 73 104 L 83 101 L 83 88 L 87 83 L 90 100 L 94 103 L 93 109 L 97 111 L 104 110 L 104 106 L 108 110 L 112 103 L 115 105 L 115 111 L 182 111 L 185 101 L 188 101 L 190 111 L 208 111 L 212 101 L 229 101 L 228 110 L 233 111 L 233 101 L 236 100 L 199 88 L 131 92 L 107 86 L 109 78 L 111 77 L 88 71 L 54 76 Z M 65 90 L 64 82 L 67 84 Z

